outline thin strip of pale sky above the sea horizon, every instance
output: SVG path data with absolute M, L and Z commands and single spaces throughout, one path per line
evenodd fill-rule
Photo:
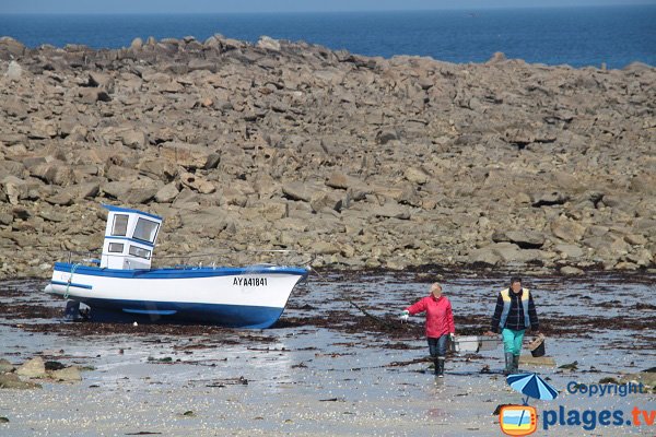
M 0 0 L 2 13 L 251 13 L 656 4 L 656 0 Z

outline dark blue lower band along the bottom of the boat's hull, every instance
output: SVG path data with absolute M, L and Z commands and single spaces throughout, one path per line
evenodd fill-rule
M 270 328 L 284 308 L 177 302 L 77 298 L 91 307 L 94 321 L 197 322 L 226 328 Z

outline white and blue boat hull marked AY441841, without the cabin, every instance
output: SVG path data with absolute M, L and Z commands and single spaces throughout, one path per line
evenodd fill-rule
M 306 269 L 269 265 L 112 270 L 56 263 L 46 292 L 89 305 L 92 319 L 268 328 L 306 275 Z

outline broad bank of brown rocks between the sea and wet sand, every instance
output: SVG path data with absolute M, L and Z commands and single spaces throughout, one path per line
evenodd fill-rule
M 652 269 L 656 69 L 368 58 L 262 37 L 0 39 L 0 277 L 165 217 L 157 258 Z

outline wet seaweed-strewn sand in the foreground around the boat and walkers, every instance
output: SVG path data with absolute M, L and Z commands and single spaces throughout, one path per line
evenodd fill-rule
M 426 371 L 421 317 L 398 312 L 427 293 L 433 275 L 321 273 L 296 288 L 274 329 L 61 322 L 63 302 L 43 281 L 0 284 L 0 358 L 39 354 L 91 366 L 79 383 L 0 390 L 1 435 L 497 436 L 499 404 L 522 403 L 500 374 L 503 351 L 452 355 L 446 377 Z M 487 329 L 506 276 L 446 275 L 459 334 Z M 656 395 L 569 394 L 571 381 L 596 383 L 653 367 L 653 276 L 589 274 L 527 279 L 547 352 L 577 369 L 525 367 L 562 390 L 543 409 L 656 410 Z M 358 307 L 366 311 L 366 315 Z M 492 374 L 481 374 L 489 366 Z M 539 421 L 541 417 L 539 418 Z M 541 422 L 539 422 L 541 426 Z M 654 435 L 655 427 L 554 426 L 536 435 Z

